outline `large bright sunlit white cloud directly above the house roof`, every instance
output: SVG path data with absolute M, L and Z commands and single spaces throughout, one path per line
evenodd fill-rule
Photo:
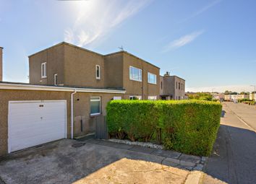
M 74 24 L 64 30 L 64 40 L 79 46 L 95 43 L 140 12 L 151 0 L 72 1 Z

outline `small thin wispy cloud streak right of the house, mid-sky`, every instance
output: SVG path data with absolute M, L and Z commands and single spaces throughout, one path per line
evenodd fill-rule
M 172 41 L 171 43 L 168 43 L 165 48 L 163 48 L 163 53 L 166 53 L 168 51 L 174 50 L 176 48 L 183 47 L 184 45 L 187 45 L 188 43 L 191 43 L 195 38 L 197 38 L 199 35 L 201 35 L 204 31 L 200 30 L 197 32 L 192 32 L 188 35 L 184 35 L 181 38 Z

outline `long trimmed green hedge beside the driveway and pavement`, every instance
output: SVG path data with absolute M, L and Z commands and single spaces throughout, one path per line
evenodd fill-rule
M 112 100 L 108 133 L 118 139 L 157 141 L 166 149 L 208 156 L 220 126 L 222 105 L 204 100 Z

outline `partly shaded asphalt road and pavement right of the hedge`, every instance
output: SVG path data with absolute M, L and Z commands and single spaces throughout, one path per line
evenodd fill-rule
M 256 108 L 224 102 L 223 110 L 202 183 L 256 183 Z

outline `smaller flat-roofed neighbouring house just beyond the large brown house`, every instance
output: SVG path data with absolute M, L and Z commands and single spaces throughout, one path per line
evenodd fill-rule
M 162 100 L 184 100 L 185 96 L 185 80 L 179 76 L 170 76 L 166 72 L 160 76 L 160 97 Z

